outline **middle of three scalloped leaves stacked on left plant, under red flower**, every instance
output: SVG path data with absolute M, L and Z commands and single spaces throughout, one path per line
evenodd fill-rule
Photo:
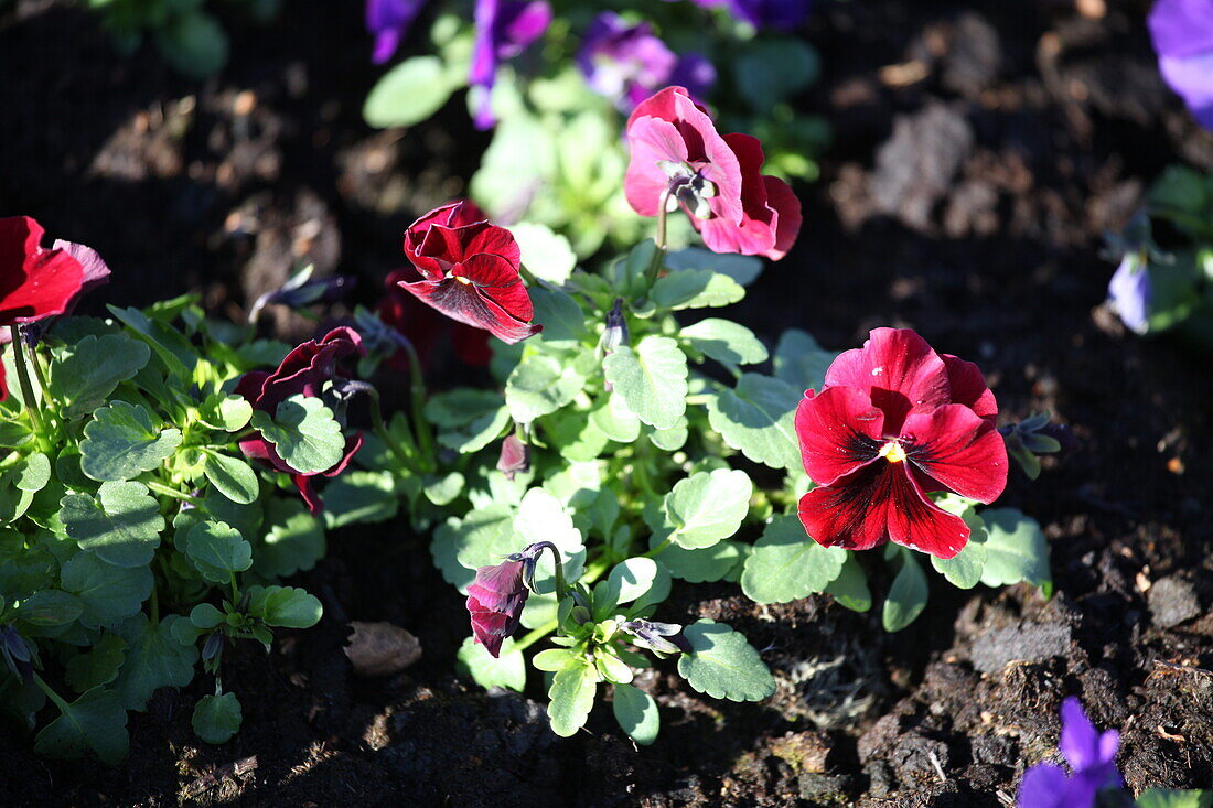
M 160 467 L 181 445 L 180 429 L 160 429 L 138 404 L 113 402 L 84 428 L 80 468 L 99 482 L 124 480 Z

